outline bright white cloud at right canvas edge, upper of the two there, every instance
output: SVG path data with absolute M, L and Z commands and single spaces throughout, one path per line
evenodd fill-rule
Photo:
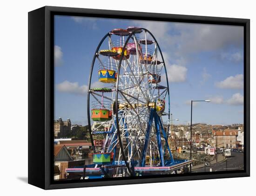
M 243 74 L 229 76 L 221 82 L 217 82 L 216 86 L 223 89 L 243 89 Z

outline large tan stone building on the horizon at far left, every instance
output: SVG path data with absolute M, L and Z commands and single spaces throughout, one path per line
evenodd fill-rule
M 71 121 L 68 118 L 63 121 L 62 118 L 54 120 L 54 138 L 67 137 L 71 132 Z

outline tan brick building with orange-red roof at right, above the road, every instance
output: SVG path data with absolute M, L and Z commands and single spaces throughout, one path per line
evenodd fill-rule
M 216 148 L 236 148 L 237 130 L 213 131 L 213 145 Z

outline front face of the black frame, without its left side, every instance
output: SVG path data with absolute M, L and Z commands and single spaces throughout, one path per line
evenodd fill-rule
M 249 176 L 249 19 L 235 19 L 235 18 L 222 18 L 222 17 L 208 17 L 208 16 L 191 16 L 191 15 L 177 15 L 177 14 L 163 14 L 163 13 L 140 13 L 140 12 L 127 12 L 127 11 L 113 11 L 113 10 L 98 10 L 98 9 L 85 9 L 85 8 L 70 8 L 70 7 L 44 7 L 45 8 L 45 187 L 44 189 L 63 189 L 63 188 L 78 188 L 78 187 L 93 187 L 93 186 L 109 186 L 109 185 L 122 185 L 122 184 L 136 184 L 136 183 L 157 183 L 157 182 L 173 182 L 173 181 L 187 181 L 187 180 L 202 180 L 202 179 L 215 179 L 215 178 L 230 178 L 230 177 L 243 177 Z M 51 56 L 51 43 L 53 36 L 51 29 L 53 22 L 51 21 L 51 14 L 53 13 L 69 13 L 70 15 L 107 15 L 109 17 L 139 17 L 143 20 L 163 20 L 168 19 L 172 21 L 184 21 L 191 23 L 205 23 L 205 24 L 234 24 L 244 26 L 244 123 L 245 127 L 245 144 L 246 144 L 246 160 L 245 172 L 240 173 L 223 173 L 211 175 L 191 175 L 191 176 L 170 176 L 170 177 L 148 177 L 145 179 L 121 179 L 121 180 L 106 180 L 101 182 L 79 182 L 79 183 L 52 183 L 51 176 L 51 152 L 53 152 L 53 145 L 51 145 L 51 138 L 53 134 L 50 131 L 53 123 L 51 122 L 53 115 L 54 100 L 51 93 L 54 93 L 53 86 L 51 86 L 51 79 L 53 79 L 54 67 L 50 66 L 53 63 L 53 56 Z M 150 16 L 147 16 L 149 15 Z

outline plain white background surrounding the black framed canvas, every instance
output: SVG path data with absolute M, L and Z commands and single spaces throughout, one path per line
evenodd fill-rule
M 0 9 L 1 195 L 254 195 L 256 13 L 252 0 L 8 0 Z M 27 180 L 27 12 L 43 6 L 246 18 L 251 20 L 251 177 L 44 191 Z M 2 126 L 3 125 L 3 126 Z M 113 193 L 115 191 L 115 193 Z

